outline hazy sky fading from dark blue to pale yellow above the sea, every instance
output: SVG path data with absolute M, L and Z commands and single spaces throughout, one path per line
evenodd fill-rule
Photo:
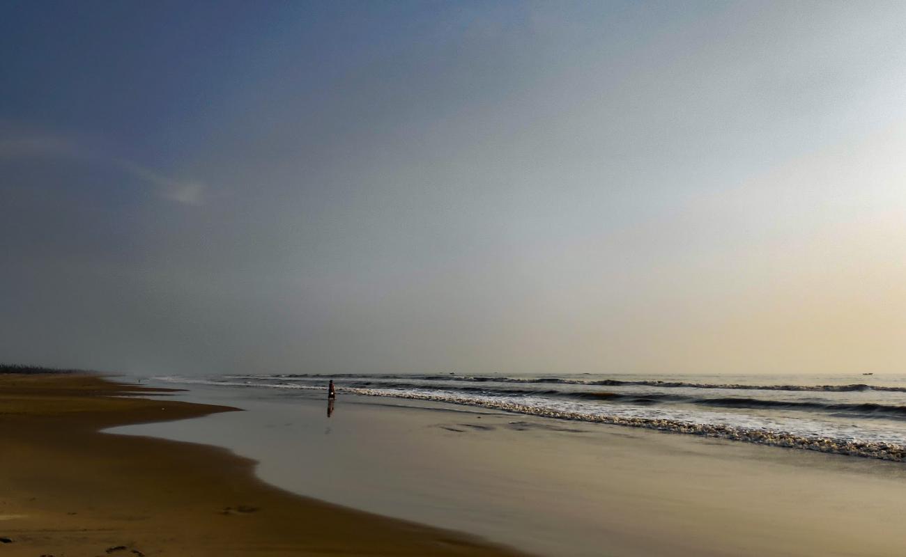
M 0 3 L 0 361 L 906 371 L 906 4 Z

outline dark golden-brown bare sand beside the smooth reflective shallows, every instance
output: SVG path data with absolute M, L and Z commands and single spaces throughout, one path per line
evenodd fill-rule
M 141 397 L 153 392 L 85 375 L 0 376 L 0 554 L 518 554 L 290 494 L 225 449 L 100 433 L 235 409 Z

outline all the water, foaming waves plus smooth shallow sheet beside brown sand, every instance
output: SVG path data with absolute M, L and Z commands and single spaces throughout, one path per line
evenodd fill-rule
M 249 373 L 142 383 L 244 411 L 111 433 L 224 447 L 298 495 L 537 555 L 906 554 L 895 534 L 906 514 L 906 466 L 895 461 L 906 378 Z

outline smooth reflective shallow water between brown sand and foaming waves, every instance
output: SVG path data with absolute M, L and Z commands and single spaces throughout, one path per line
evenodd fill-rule
M 117 431 L 228 447 L 301 495 L 539 554 L 906 552 L 901 463 L 342 390 L 328 417 L 320 390 L 190 388 L 178 397 L 248 411 Z

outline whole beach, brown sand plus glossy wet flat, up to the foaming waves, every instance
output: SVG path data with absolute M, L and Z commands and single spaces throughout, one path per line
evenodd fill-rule
M 6 555 L 906 552 L 899 462 L 351 394 L 342 380 L 333 403 L 248 384 L 0 381 Z

